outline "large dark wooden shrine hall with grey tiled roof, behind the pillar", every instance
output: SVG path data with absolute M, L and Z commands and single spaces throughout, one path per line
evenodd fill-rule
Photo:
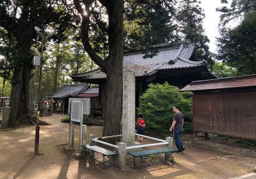
M 150 83 L 164 83 L 183 88 L 191 81 L 215 79 L 207 63 L 196 56 L 195 45 L 188 41 L 172 44 L 159 44 L 152 47 L 157 51 L 153 58 L 143 58 L 143 51 L 124 52 L 124 71 L 136 73 L 136 107 L 139 97 L 147 90 Z M 72 75 L 74 81 L 99 85 L 100 103 L 104 102 L 106 90 L 106 74 L 100 70 L 92 70 L 83 74 Z

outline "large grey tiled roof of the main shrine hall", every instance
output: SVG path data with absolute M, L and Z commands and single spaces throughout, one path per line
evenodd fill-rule
M 141 51 L 125 52 L 124 71 L 134 71 L 136 76 L 152 75 L 159 70 L 191 68 L 206 65 L 205 61 L 191 61 L 195 45 L 188 41 L 170 44 L 157 45 L 157 54 L 153 58 L 143 58 L 145 54 Z M 196 59 L 197 60 L 197 59 Z M 86 79 L 104 79 L 106 74 L 100 69 L 74 74 L 72 77 L 85 77 Z

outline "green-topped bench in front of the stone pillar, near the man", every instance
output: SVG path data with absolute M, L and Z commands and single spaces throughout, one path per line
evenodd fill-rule
M 133 165 L 134 167 L 136 167 L 136 162 L 135 162 L 135 158 L 136 157 L 140 157 L 140 169 L 142 169 L 143 166 L 149 166 L 151 164 L 159 164 L 159 163 L 165 163 L 165 162 L 170 162 L 168 159 L 166 159 L 166 153 L 174 153 L 177 152 L 177 150 L 175 150 L 174 148 L 157 148 L 157 149 L 152 149 L 152 150 L 143 150 L 143 151 L 138 151 L 138 152 L 129 152 L 130 155 L 133 156 Z M 147 155 L 154 155 L 154 154 L 161 154 L 164 153 L 164 161 L 161 162 L 154 162 L 154 163 L 150 163 L 150 164 L 144 164 L 142 163 L 142 157 L 143 156 L 147 156 Z M 174 157 L 172 155 L 172 166 L 174 164 Z

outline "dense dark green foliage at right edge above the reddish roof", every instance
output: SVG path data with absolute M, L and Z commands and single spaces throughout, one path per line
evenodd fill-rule
M 234 29 L 221 30 L 218 38 L 217 58 L 232 68 L 238 75 L 256 72 L 256 11 L 247 13 L 241 24 Z

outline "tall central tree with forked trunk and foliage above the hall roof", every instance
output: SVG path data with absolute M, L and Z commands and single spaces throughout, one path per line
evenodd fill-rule
M 68 5 L 68 1 L 63 2 L 72 10 L 72 4 Z M 134 27 L 136 33 L 129 31 L 130 27 L 126 26 L 125 36 L 128 36 L 125 38 L 126 46 L 149 47 L 156 43 L 171 42 L 170 36 L 173 36 L 174 30 L 172 20 L 168 19 L 170 18 L 168 12 L 172 12 L 173 2 L 172 0 L 134 0 L 124 3 L 124 0 L 74 0 L 76 10 L 81 17 L 81 40 L 84 49 L 107 74 L 103 136 L 118 134 L 122 103 L 124 13 L 127 23 L 132 22 L 135 26 L 137 24 L 140 26 L 139 30 Z M 157 19 L 161 19 L 163 23 Z M 131 37 L 136 42 L 129 40 Z

